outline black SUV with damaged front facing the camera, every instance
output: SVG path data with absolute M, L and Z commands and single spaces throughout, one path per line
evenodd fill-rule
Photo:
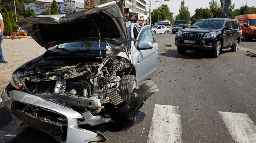
M 180 54 L 185 54 L 187 50 L 209 51 L 215 58 L 219 56 L 221 50 L 237 52 L 241 33 L 236 19 L 201 19 L 190 28 L 178 31 L 175 45 Z

